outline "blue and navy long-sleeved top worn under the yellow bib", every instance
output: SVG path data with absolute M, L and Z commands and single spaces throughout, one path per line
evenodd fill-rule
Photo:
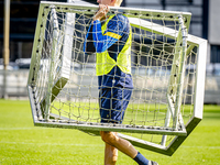
M 108 50 L 111 58 L 117 62 L 117 56 L 123 48 L 130 34 L 129 20 L 122 14 L 114 15 L 109 21 L 103 34 L 101 32 L 101 22 L 98 20 L 90 24 L 84 43 L 84 52 L 101 53 Z M 98 76 L 98 82 L 99 88 L 133 88 L 131 75 L 121 72 L 118 66 L 112 68 L 107 75 Z

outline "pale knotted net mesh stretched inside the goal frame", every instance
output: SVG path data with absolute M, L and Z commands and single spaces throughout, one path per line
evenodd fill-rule
M 67 8 L 45 8 L 38 34 L 38 45 L 33 65 L 33 84 L 35 101 L 41 110 L 36 111 L 38 119 L 50 118 L 54 121 L 75 121 L 77 123 L 100 123 L 99 87 L 96 76 L 96 53 L 86 54 L 84 42 L 95 11 L 74 10 Z M 74 14 L 74 20 L 67 20 Z M 151 16 L 123 11 L 122 14 L 135 18 L 132 26 L 131 69 L 133 91 L 125 110 L 121 125 L 173 128 L 173 117 L 168 124 L 167 111 L 170 105 L 167 100 L 168 88 L 178 86 L 170 84 L 175 74 L 172 67 L 178 45 L 177 36 L 180 24 L 177 15 Z M 144 20 L 145 22 L 141 22 Z M 147 28 L 146 28 L 147 26 Z M 166 28 L 170 29 L 166 33 Z M 66 33 L 70 31 L 72 33 Z M 156 32 L 157 31 L 157 32 Z M 164 33 L 162 33 L 164 32 Z M 65 40 L 70 42 L 65 43 Z M 189 48 L 190 45 L 187 45 Z M 70 50 L 70 55 L 65 54 Z M 197 47 L 187 52 L 184 63 L 183 95 L 178 116 L 186 123 L 193 113 L 195 95 Z M 65 73 L 65 74 L 64 74 Z M 67 74 L 66 74 L 67 73 Z M 64 76 L 65 75 L 65 76 Z M 66 76 L 67 75 L 67 76 Z M 179 94 L 175 94 L 175 97 Z M 50 101 L 47 98 L 52 98 Z M 47 99 L 47 100 L 46 100 Z M 174 103 L 174 107 L 177 105 Z M 47 110 L 46 110 L 47 109 Z M 130 134 L 130 133 L 128 133 Z M 161 143 L 162 135 L 133 134 L 151 142 Z M 168 136 L 170 141 L 174 136 Z

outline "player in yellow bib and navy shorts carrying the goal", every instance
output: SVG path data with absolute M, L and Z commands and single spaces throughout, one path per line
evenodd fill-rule
M 99 85 L 99 105 L 102 123 L 122 123 L 132 95 L 131 41 L 129 20 L 120 13 L 107 15 L 109 7 L 120 7 L 123 0 L 97 0 L 99 10 L 94 15 L 85 43 L 85 53 L 96 53 L 96 73 Z M 146 160 L 117 132 L 100 131 L 106 143 L 105 165 L 114 165 L 118 150 L 140 165 L 157 165 Z

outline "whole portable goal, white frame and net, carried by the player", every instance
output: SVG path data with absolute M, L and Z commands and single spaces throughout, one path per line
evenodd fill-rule
M 133 89 L 123 122 L 101 123 L 96 53 L 84 51 L 97 10 L 41 2 L 28 81 L 35 125 L 121 132 L 172 155 L 202 119 L 206 41 L 188 34 L 190 13 L 110 8 L 132 28 Z

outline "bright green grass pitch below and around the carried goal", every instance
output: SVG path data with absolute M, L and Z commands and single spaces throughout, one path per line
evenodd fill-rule
M 29 101 L 0 100 L 0 164 L 102 165 L 103 142 L 77 130 L 33 125 Z M 138 148 L 160 165 L 220 165 L 220 107 L 205 106 L 204 120 L 173 156 Z M 118 165 L 135 165 L 119 153 Z

